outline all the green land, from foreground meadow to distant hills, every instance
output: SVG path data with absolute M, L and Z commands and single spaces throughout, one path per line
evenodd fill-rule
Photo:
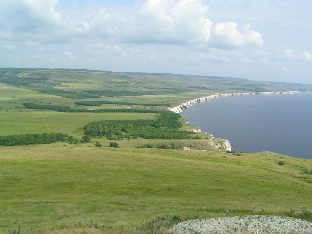
M 311 221 L 311 160 L 216 151 L 222 139 L 164 112 L 217 92 L 287 90 L 312 85 L 2 68 L 0 233 L 166 233 L 249 214 Z

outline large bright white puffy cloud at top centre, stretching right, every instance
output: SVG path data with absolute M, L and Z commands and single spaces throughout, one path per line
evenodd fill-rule
M 91 29 L 119 42 L 186 44 L 194 48 L 262 46 L 260 32 L 235 22 L 213 23 L 202 0 L 147 0 L 135 12 L 101 9 Z

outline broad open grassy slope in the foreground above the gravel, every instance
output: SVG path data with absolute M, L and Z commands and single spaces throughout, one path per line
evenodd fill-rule
M 133 229 L 164 214 L 188 219 L 312 206 L 311 160 L 268 152 L 56 143 L 1 147 L 0 165 L 2 230 L 71 228 L 82 217 Z

